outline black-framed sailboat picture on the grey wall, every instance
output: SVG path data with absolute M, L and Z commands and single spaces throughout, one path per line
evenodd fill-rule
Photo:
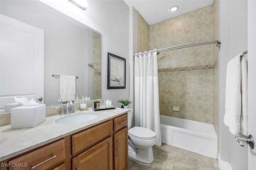
M 125 59 L 108 53 L 108 89 L 125 88 Z

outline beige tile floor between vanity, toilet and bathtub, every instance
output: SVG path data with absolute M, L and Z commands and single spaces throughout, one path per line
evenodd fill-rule
M 129 157 L 128 170 L 219 170 L 218 160 L 162 143 L 153 147 L 154 161 L 146 164 Z

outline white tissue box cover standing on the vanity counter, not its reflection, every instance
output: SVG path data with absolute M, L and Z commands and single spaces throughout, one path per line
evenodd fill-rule
M 12 129 L 36 127 L 46 120 L 46 106 L 20 106 L 11 109 Z

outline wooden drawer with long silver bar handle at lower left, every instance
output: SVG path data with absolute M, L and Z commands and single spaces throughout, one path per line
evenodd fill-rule
M 50 145 L 34 150 L 28 154 L 10 160 L 13 166 L 10 170 L 43 170 L 65 159 L 65 140 L 54 142 Z M 18 165 L 16 167 L 14 165 Z M 33 168 L 32 168 L 33 167 Z

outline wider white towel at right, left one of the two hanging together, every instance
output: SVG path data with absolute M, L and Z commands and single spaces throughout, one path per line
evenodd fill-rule
M 241 62 L 240 55 L 237 55 L 228 62 L 226 74 L 226 101 L 224 124 L 229 131 L 238 135 L 240 132 L 241 116 Z

